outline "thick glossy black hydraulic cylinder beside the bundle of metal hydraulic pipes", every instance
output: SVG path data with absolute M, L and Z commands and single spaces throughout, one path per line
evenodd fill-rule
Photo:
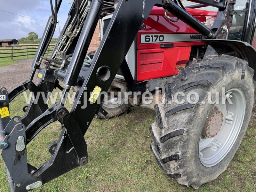
M 103 8 L 102 0 L 92 2 L 63 83 L 74 86 Z

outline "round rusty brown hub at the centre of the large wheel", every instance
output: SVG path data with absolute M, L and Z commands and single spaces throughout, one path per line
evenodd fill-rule
M 223 122 L 223 113 L 217 109 L 212 109 L 208 115 L 208 121 L 204 125 L 203 136 L 208 138 L 215 137 Z

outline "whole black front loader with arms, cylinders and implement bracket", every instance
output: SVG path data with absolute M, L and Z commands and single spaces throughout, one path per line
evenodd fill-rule
M 100 95 L 100 93 L 108 91 L 121 64 L 124 65 L 125 55 L 140 30 L 143 20 L 148 18 L 154 5 L 163 6 L 168 12 L 177 16 L 204 36 L 208 36 L 208 38 L 223 39 L 227 35 L 224 26 L 230 27 L 232 22 L 230 12 L 235 4 L 235 0 L 229 0 L 228 2 L 224 0 L 220 2 L 198 0 L 198 3 L 220 8 L 217 20 L 210 30 L 173 1 L 120 0 L 90 67 L 84 67 L 84 58 L 97 22 L 102 17 L 103 10 L 107 10 L 108 5 L 112 5 L 113 1 L 86 1 L 86 7 L 89 6 L 88 14 L 86 13 L 87 16 L 84 21 L 82 20 L 81 23 L 77 21 L 76 25 L 74 18 L 78 17 L 77 20 L 79 20 L 79 12 L 84 9 L 82 6 L 84 2 L 82 0 L 75 1 L 58 44 L 55 45 L 51 55 L 50 60 L 52 60 L 45 59 L 49 63 L 54 62 L 54 54 L 61 47 L 69 46 L 65 53 L 62 52 L 67 57 L 72 56 L 69 64 L 65 65 L 65 62 L 62 62 L 62 64 L 64 63 L 63 66 L 55 63 L 55 67 L 40 68 L 44 59 L 43 55 L 56 27 L 57 12 L 61 4 L 61 0 L 59 0 L 55 3 L 55 10 L 52 9 L 52 16 L 45 28 L 32 64 L 33 70 L 30 79 L 14 88 L 9 94 L 4 88 L 0 91 L 0 96 L 4 96 L 4 99 L 0 100 L 0 108 L 6 110 L 4 116 L 1 115 L 2 118 L 0 118 L 0 148 L 3 150 L 2 157 L 6 164 L 11 191 L 28 191 L 38 188 L 78 166 L 87 164 L 88 155 L 84 134 L 96 113 L 107 114 L 101 108 L 100 103 L 104 95 Z M 111 7 L 111 9 L 113 8 Z M 229 13 L 228 17 L 223 19 L 223 16 L 227 13 Z M 77 36 L 66 33 L 71 25 L 78 26 L 78 24 L 80 28 L 76 28 Z M 69 43 L 62 42 L 62 36 L 69 39 Z M 64 59 L 64 61 L 66 60 Z M 39 71 L 38 77 L 41 80 L 38 85 L 35 85 L 32 80 L 37 70 Z M 65 84 L 65 88 L 60 86 L 60 81 Z M 80 91 L 71 112 L 68 112 L 64 107 L 66 95 L 71 86 L 75 85 L 79 85 Z M 43 101 L 42 93 L 46 96 L 48 92 L 52 92 L 55 88 L 63 91 L 63 97 L 59 103 L 48 108 Z M 32 92 L 35 97 L 32 98 L 30 105 L 23 108 L 25 112 L 23 117 L 14 116 L 10 119 L 9 102 L 26 90 Z M 41 93 L 41 95 L 36 97 L 38 93 Z M 61 123 L 62 132 L 58 142 L 52 143 L 49 147 L 49 152 L 52 154 L 51 158 L 39 168 L 28 164 L 26 146 L 40 131 L 55 121 Z

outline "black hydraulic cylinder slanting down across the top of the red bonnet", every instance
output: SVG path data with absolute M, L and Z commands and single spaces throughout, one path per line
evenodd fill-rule
M 164 9 L 167 9 L 168 12 L 172 13 L 174 16 L 188 24 L 190 27 L 197 30 L 199 33 L 201 33 L 203 36 L 211 37 L 212 33 L 209 28 L 204 26 L 199 20 L 194 18 L 192 15 L 190 15 L 186 10 L 182 9 L 179 5 L 174 3 L 173 1 L 170 1 L 170 3 L 167 6 L 163 6 Z

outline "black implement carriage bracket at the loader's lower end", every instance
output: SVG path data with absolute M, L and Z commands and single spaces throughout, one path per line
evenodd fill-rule
M 17 120 L 14 120 L 15 118 Z M 49 151 L 51 158 L 37 169 L 27 162 L 26 146 L 31 139 L 29 131 L 32 129 L 32 132 L 35 132 L 31 136 L 33 138 L 53 121 L 60 121 L 62 132 L 59 141 L 55 143 L 55 149 Z M 14 116 L 4 131 L 7 135 L 3 142 L 7 144 L 7 148 L 3 149 L 2 157 L 12 175 L 15 191 L 24 191 L 36 182 L 42 185 L 88 163 L 87 145 L 81 128 L 63 106 L 53 105 L 27 127 L 21 123 L 19 116 Z M 19 140 L 22 140 L 24 146 L 17 146 L 20 145 Z

